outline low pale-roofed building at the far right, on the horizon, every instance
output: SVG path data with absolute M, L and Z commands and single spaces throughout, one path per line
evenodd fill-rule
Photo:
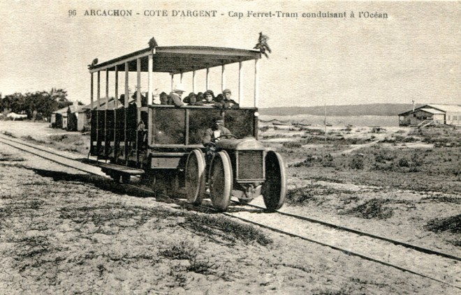
M 461 126 L 460 105 L 423 105 L 399 114 L 399 126 Z

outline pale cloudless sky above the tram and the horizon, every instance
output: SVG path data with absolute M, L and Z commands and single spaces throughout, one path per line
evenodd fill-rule
M 92 9 L 132 10 L 133 16 L 84 15 Z M 72 10 L 75 16 L 69 15 Z M 144 16 L 145 10 L 166 10 L 168 15 Z M 173 11 L 183 10 L 216 10 L 217 16 L 173 16 Z M 249 11 L 298 13 L 298 17 L 256 17 L 248 16 Z M 302 15 L 319 11 L 345 12 L 346 17 Z M 363 17 L 363 13 L 359 17 L 360 12 L 388 17 Z M 238 13 L 243 17 L 233 16 Z M 3 0 L 0 92 L 5 96 L 56 87 L 68 91 L 70 100 L 89 103 L 87 65 L 94 58 L 101 63 L 144 49 L 152 36 L 160 46 L 251 49 L 262 31 L 270 38 L 272 53 L 259 61 L 258 107 L 411 100 L 461 105 L 460 19 L 459 1 Z M 226 86 L 235 93 L 237 68 L 226 67 Z M 212 68 L 210 77 L 210 88 L 219 93 L 221 69 Z M 245 99 L 252 98 L 251 61 L 244 62 L 244 79 Z M 198 88 L 203 90 L 204 80 L 205 74 L 198 73 Z M 183 81 L 191 91 L 191 76 L 185 75 Z M 154 83 L 168 91 L 170 77 L 154 76 Z M 131 80 L 130 88 L 135 87 Z M 143 87 L 147 91 L 147 81 Z

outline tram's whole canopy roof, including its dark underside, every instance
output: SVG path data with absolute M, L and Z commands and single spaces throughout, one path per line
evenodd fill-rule
M 128 62 L 129 71 L 137 70 L 137 59 L 140 59 L 141 72 L 147 72 L 149 54 L 153 56 L 154 72 L 186 73 L 192 70 L 202 70 L 228 63 L 260 59 L 258 50 L 240 50 L 235 48 L 208 46 L 161 46 L 154 49 L 146 48 L 130 54 L 119 56 L 89 68 L 90 73 L 108 69 L 124 71 Z

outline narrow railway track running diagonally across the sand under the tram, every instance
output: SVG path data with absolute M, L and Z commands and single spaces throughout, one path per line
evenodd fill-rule
M 0 135 L 0 143 L 13 146 L 16 149 L 51 160 L 52 162 L 57 162 L 59 165 L 107 177 L 101 172 L 99 167 L 82 163 L 81 159 L 71 156 L 71 154 L 66 156 L 61 152 L 57 153 L 52 149 L 24 143 L 3 135 Z M 155 194 L 154 191 L 140 188 L 139 186 L 126 186 Z M 168 196 L 163 195 L 162 197 Z M 178 199 L 175 199 L 175 202 L 186 204 L 185 201 Z M 202 207 L 214 211 L 210 202 L 205 202 Z M 228 212 L 223 214 L 270 229 L 273 232 L 317 243 L 339 250 L 346 255 L 357 256 L 384 266 L 397 268 L 400 271 L 406 271 L 423 278 L 441 282 L 456 289 L 461 289 L 458 266 L 461 261 L 460 257 L 287 212 L 277 211 L 276 213 L 272 213 L 277 215 L 277 218 L 267 218 L 268 215 L 261 214 L 263 209 L 264 207 L 256 204 L 230 206 Z M 289 227 L 287 228 L 286 225 L 289 225 Z

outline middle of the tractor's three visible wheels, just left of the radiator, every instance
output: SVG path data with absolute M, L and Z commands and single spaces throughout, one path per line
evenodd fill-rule
M 231 160 L 226 151 L 214 155 L 210 167 L 210 197 L 213 206 L 226 211 L 233 184 Z

